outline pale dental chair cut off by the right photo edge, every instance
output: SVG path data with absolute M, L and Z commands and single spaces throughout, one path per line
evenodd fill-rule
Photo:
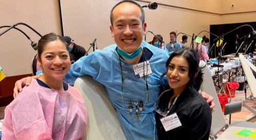
M 256 105 L 256 79 L 252 73 L 252 70 L 256 72 L 256 67 L 253 64 L 251 64 L 242 54 L 239 55 L 239 59 L 242 64 L 243 71 L 251 91 L 251 95 L 248 98 L 246 97 L 246 100 L 243 101 L 244 107 L 246 107 L 248 110 L 250 110 L 254 114 L 252 118 L 247 120 L 247 121 L 251 121 L 254 118 L 256 118 L 256 110 L 255 108 L 252 108 L 251 106 L 249 106 L 247 103 L 254 103 L 254 106 Z

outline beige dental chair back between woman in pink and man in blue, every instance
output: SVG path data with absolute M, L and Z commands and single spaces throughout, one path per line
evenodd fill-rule
M 126 139 L 105 87 L 88 75 L 78 77 L 74 87 L 82 94 L 87 107 L 86 139 Z

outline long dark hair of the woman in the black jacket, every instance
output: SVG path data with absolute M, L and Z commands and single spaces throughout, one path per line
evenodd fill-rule
M 166 71 L 170 61 L 177 56 L 187 60 L 189 66 L 188 76 L 190 78 L 188 86 L 189 88 L 195 88 L 198 91 L 203 82 L 203 73 L 202 69 L 199 67 L 200 59 L 198 53 L 193 48 L 182 48 L 174 51 L 166 62 Z M 195 77 L 197 72 L 198 75 Z

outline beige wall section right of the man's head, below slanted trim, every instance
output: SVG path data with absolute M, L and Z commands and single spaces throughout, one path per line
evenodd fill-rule
M 196 35 L 203 30 L 209 31 L 211 20 L 220 20 L 220 16 L 216 14 L 207 14 L 203 12 L 191 11 L 180 8 L 167 6 L 159 6 L 157 10 L 145 10 L 147 30 L 156 34 L 161 34 L 165 42 L 169 41 L 169 33 L 175 31 L 177 33 L 185 33 L 188 35 Z M 157 20 L 159 18 L 160 20 Z M 203 34 L 202 34 L 203 35 Z M 182 35 L 177 37 L 181 40 Z M 153 35 L 147 37 L 147 41 L 151 40 Z M 189 38 L 191 41 L 191 38 Z

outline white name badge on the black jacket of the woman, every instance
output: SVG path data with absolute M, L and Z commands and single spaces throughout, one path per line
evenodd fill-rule
M 161 118 L 160 121 L 163 124 L 163 127 L 166 132 L 174 128 L 177 128 L 179 126 L 182 126 L 180 119 L 178 118 L 176 113 L 169 115 L 167 117 Z

